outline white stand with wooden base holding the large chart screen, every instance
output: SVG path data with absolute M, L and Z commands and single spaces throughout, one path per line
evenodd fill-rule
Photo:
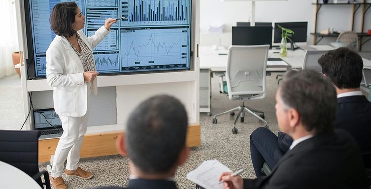
M 25 113 L 24 130 L 33 129 L 35 109 L 53 108 L 53 88 L 46 79 L 29 80 L 28 45 L 26 35 L 26 13 L 24 2 L 15 0 L 19 48 L 23 51 L 24 62 L 20 66 L 22 95 Z M 115 142 L 117 136 L 125 131 L 130 113 L 143 100 L 158 94 L 169 94 L 178 98 L 185 106 L 188 115 L 188 133 L 186 145 L 200 146 L 201 125 L 199 121 L 199 1 L 192 1 L 191 55 L 190 70 L 173 72 L 154 72 L 130 75 L 98 76 L 98 95 L 91 95 L 90 121 L 81 157 L 93 157 L 117 154 Z M 29 95 L 29 94 L 32 94 Z M 109 103 L 105 103 L 109 102 Z M 113 113 L 112 113 L 113 110 Z M 30 116 L 28 116 L 30 112 Z M 95 116 L 94 114 L 95 113 Z M 106 116 L 112 115 L 112 116 Z M 103 118 L 108 117 L 108 119 Z M 113 118 L 112 118 L 113 117 Z M 113 120 L 113 121 L 112 121 Z M 58 143 L 55 139 L 39 139 L 39 162 L 49 161 Z

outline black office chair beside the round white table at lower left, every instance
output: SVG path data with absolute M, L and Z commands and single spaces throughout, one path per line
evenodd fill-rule
M 32 177 L 42 189 L 50 189 L 49 174 L 39 171 L 40 131 L 0 130 L 0 161 L 13 165 Z M 44 175 L 45 182 L 42 182 Z

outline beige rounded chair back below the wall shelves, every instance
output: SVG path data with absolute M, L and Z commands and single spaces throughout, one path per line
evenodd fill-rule
M 331 42 L 331 45 L 335 48 L 348 47 L 352 50 L 358 50 L 357 33 L 353 31 L 342 32 L 336 42 Z

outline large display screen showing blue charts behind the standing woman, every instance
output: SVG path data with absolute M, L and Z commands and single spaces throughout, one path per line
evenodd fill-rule
M 27 1 L 27 0 L 26 0 Z M 74 1 L 91 36 L 107 18 L 120 18 L 93 49 L 101 74 L 190 69 L 191 0 L 28 0 L 35 77 L 46 77 L 46 50 L 55 37 L 49 17 L 60 2 Z M 26 11 L 28 12 L 28 11 Z M 27 14 L 27 13 L 26 13 Z

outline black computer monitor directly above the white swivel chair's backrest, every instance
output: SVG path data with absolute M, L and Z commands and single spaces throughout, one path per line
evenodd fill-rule
M 233 26 L 232 45 L 262 45 L 272 47 L 272 26 Z

